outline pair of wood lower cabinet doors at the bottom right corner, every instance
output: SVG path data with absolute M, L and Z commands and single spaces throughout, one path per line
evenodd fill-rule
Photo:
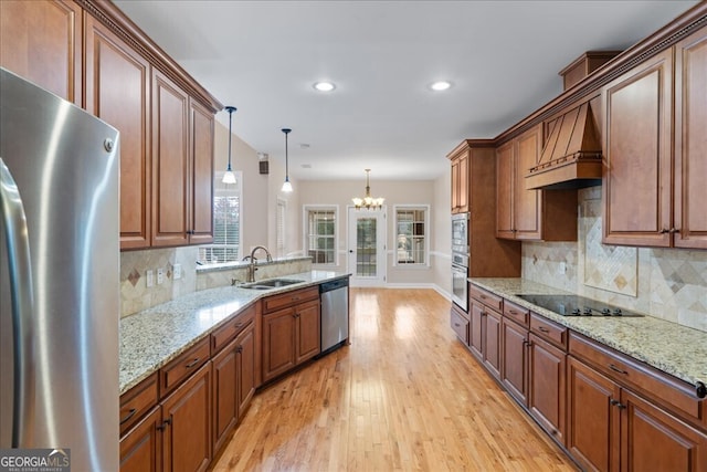
M 707 470 L 707 434 L 573 357 L 568 363 L 570 453 L 587 470 Z

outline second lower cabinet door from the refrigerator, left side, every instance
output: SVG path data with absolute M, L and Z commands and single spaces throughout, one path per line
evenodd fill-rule
M 162 402 L 162 424 L 165 470 L 207 470 L 211 462 L 211 363 Z

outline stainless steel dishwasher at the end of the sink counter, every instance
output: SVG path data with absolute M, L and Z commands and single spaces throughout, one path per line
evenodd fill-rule
M 321 354 L 342 346 L 349 338 L 349 279 L 319 285 L 321 298 Z

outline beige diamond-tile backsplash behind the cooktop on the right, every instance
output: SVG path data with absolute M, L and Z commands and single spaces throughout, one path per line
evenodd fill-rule
M 707 332 L 707 251 L 601 243 L 601 187 L 579 190 L 577 242 L 524 242 L 523 276 Z

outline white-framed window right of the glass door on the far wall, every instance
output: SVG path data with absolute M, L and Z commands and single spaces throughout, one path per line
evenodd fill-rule
M 429 265 L 429 206 L 395 206 L 395 264 Z

